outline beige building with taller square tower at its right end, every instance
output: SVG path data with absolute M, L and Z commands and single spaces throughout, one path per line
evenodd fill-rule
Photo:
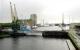
M 18 19 L 20 24 L 29 25 L 31 28 L 37 25 L 37 15 L 31 14 L 30 19 Z

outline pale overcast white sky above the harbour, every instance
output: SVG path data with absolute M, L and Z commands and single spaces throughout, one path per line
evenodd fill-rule
M 0 0 L 0 23 L 11 22 L 10 1 L 19 19 L 37 14 L 37 23 L 80 22 L 80 0 Z

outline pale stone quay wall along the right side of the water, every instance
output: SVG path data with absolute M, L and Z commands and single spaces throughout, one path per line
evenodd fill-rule
M 70 25 L 69 37 L 71 41 L 74 43 L 77 50 L 80 50 L 80 36 L 76 34 L 75 25 L 80 25 L 79 23 L 72 23 Z

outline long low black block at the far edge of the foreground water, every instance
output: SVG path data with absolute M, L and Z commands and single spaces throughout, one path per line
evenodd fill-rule
M 43 37 L 57 37 L 57 38 L 67 38 L 68 32 L 66 31 L 43 31 Z

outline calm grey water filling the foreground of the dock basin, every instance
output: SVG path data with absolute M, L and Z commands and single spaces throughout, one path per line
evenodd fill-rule
M 0 50 L 68 50 L 66 39 L 19 37 L 0 39 Z

